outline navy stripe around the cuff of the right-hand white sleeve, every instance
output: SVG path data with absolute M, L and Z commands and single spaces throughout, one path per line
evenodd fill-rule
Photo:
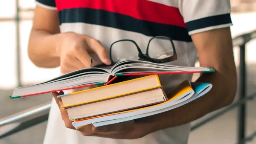
M 188 31 L 190 32 L 196 29 L 203 29 L 209 26 L 218 26 L 227 23 L 232 23 L 230 14 L 221 14 L 189 21 L 186 23 L 186 26 L 188 28 Z

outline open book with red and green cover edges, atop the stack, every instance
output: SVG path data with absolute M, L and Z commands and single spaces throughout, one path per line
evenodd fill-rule
M 160 75 L 214 72 L 215 69 L 208 67 L 173 66 L 159 63 L 151 63 L 143 60 L 125 60 L 114 66 L 104 68 L 91 67 L 54 78 L 41 84 L 25 86 L 14 89 L 10 98 L 21 98 L 31 95 L 39 95 L 61 90 L 76 89 L 86 86 L 107 85 L 116 76 L 124 75 Z

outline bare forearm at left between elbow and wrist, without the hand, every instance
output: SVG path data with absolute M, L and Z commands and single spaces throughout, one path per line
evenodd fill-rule
M 57 42 L 61 34 L 50 34 L 42 30 L 31 31 L 28 55 L 38 67 L 53 68 L 60 65 L 59 55 L 56 53 Z

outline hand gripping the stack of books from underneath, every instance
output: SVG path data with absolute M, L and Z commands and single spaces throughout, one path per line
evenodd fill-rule
M 57 98 L 58 95 L 63 94 L 63 92 L 52 92 L 52 95 L 60 109 L 61 117 L 65 123 L 65 126 L 67 128 L 76 130 L 68 117 L 67 111 L 61 107 L 63 105 L 61 98 Z M 93 124 L 88 124 L 79 128 L 78 131 L 84 136 L 99 136 L 115 139 L 136 139 L 142 138 L 148 134 L 148 128 L 150 128 L 150 126 L 147 127 L 146 125 L 147 124 L 143 124 L 141 122 L 136 123 L 135 121 L 126 121 L 96 128 L 93 126 Z

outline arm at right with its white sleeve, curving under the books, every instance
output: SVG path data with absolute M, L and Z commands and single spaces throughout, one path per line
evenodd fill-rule
M 213 86 L 207 95 L 183 107 L 141 119 L 152 126 L 150 132 L 201 118 L 231 104 L 236 94 L 236 66 L 229 28 L 232 25 L 230 0 L 207 3 L 179 0 L 179 9 L 197 49 L 200 65 L 216 69 L 213 73 L 202 74 L 197 81 Z

